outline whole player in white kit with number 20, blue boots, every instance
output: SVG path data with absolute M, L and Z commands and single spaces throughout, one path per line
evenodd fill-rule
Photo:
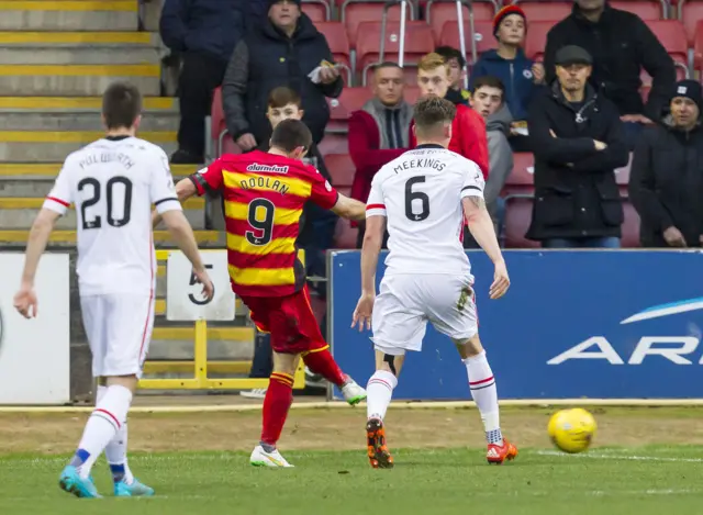
M 76 272 L 83 326 L 98 379 L 96 408 L 78 450 L 59 478 L 78 497 L 99 497 L 90 469 L 104 450 L 116 496 L 153 495 L 130 471 L 126 460 L 127 411 L 136 390 L 154 325 L 156 255 L 152 204 L 193 265 L 211 298 L 198 245 L 176 197 L 166 154 L 135 137 L 141 122 L 138 90 L 114 83 L 103 96 L 107 135 L 66 158 L 47 195 L 26 247 L 18 311 L 37 316 L 34 277 L 56 220 L 75 205 L 78 233 Z M 30 344 L 31 345 L 31 344 Z

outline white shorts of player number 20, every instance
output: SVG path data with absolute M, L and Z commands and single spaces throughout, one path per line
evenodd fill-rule
M 114 293 L 80 298 L 93 377 L 142 377 L 154 328 L 154 298 Z

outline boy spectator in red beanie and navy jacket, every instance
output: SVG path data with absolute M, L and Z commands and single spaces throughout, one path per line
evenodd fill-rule
M 505 85 L 505 103 L 513 117 L 511 144 L 515 152 L 528 152 L 526 120 L 529 102 L 535 91 L 544 83 L 545 69 L 525 56 L 527 18 L 517 5 L 506 5 L 493 19 L 493 35 L 498 48 L 484 52 L 471 70 L 469 89 L 484 76 L 493 76 Z

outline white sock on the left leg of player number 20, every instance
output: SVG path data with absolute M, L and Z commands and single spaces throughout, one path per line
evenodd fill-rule
M 83 436 L 71 461 L 71 464 L 78 467 L 81 478 L 87 479 L 90 475 L 90 469 L 98 457 L 122 429 L 131 404 L 132 392 L 124 387 L 109 387 L 102 394 L 102 399 L 98 401 L 88 418 Z

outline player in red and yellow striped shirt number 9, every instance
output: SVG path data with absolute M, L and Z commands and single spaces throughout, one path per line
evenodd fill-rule
M 291 467 L 276 445 L 301 356 L 312 371 L 336 384 L 349 404 L 366 399 L 366 391 L 342 372 L 320 333 L 295 248 L 306 201 L 354 220 L 365 219 L 366 205 L 339 194 L 302 163 L 311 145 L 305 124 L 284 120 L 274 130 L 268 153 L 224 155 L 176 186 L 181 202 L 222 192 L 232 290 L 249 307 L 258 329 L 271 334 L 274 372 L 264 400 L 261 440 L 250 457 L 254 466 Z

